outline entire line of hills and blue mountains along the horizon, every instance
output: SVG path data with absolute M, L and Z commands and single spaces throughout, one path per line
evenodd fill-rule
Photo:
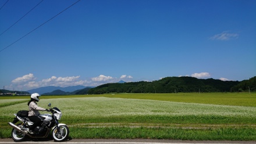
M 29 93 L 28 93 L 29 92 Z M 243 81 L 222 81 L 213 78 L 165 77 L 158 81 L 139 81 L 108 83 L 98 87 L 77 85 L 72 87 L 41 87 L 27 92 L 0 89 L 0 95 L 86 95 L 101 93 L 172 93 L 172 92 L 256 92 L 256 76 Z

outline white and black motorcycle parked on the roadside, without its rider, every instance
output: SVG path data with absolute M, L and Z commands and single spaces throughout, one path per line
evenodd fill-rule
M 15 115 L 15 118 L 12 123 L 8 123 L 12 129 L 12 139 L 15 142 L 24 141 L 24 139 L 29 136 L 30 138 L 47 138 L 49 134 L 52 135 L 52 138 L 55 142 L 65 141 L 69 136 L 69 128 L 66 124 L 59 124 L 58 120 L 61 120 L 62 113 L 57 107 L 51 108 L 51 103 L 48 104 L 48 107 L 52 114 L 40 114 L 38 117 L 41 119 L 40 125 L 34 129 L 34 134 L 30 134 L 29 128 L 33 124 L 29 120 L 28 114 L 29 111 L 21 110 Z M 18 121 L 22 123 L 15 125 Z M 52 131 L 51 131 L 52 129 Z

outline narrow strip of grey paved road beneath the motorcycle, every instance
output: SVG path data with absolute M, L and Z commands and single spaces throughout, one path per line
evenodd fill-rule
M 12 139 L 0 139 L 0 144 L 17 144 Z M 33 139 L 26 142 L 19 142 L 22 144 L 189 144 L 189 143 L 256 143 L 256 141 L 180 141 L 180 140 L 166 140 L 166 139 L 69 139 L 65 142 L 54 142 L 52 139 Z

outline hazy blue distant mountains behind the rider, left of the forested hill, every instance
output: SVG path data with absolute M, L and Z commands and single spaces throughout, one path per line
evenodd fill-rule
M 56 90 L 59 90 L 60 93 L 64 94 L 63 92 L 73 92 L 73 91 L 77 91 L 79 89 L 84 89 L 84 88 L 94 88 L 94 87 L 90 87 L 90 86 L 85 87 L 83 85 L 64 87 L 64 88 L 63 87 L 49 86 L 49 87 L 41 87 L 41 88 L 30 89 L 27 92 L 29 92 L 29 93 L 40 93 L 42 95 L 44 93 L 51 93 L 51 92 L 54 92 Z M 54 93 L 57 93 L 57 92 L 54 92 Z

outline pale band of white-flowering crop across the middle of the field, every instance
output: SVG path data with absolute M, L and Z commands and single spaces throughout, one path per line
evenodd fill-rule
M 14 102 L 15 100 L 2 99 L 1 103 Z M 80 122 L 83 123 L 87 123 L 87 118 L 105 117 L 223 116 L 253 118 L 256 116 L 256 107 L 105 97 L 41 99 L 40 102 L 38 102 L 38 106 L 47 109 L 48 103 L 52 103 L 52 106 L 58 107 L 62 111 L 63 121 L 77 119 L 81 120 Z M 27 102 L 0 107 L 0 115 L 12 120 L 13 113 L 19 110 L 27 110 Z M 42 113 L 47 112 L 42 111 Z

